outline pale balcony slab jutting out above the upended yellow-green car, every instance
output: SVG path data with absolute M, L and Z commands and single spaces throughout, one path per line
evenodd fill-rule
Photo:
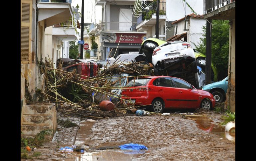
M 159 23 L 166 20 L 165 15 L 159 15 Z M 151 19 L 142 21 L 139 25 L 136 26 L 137 31 L 145 31 L 148 28 L 155 26 L 157 23 L 157 16 L 152 15 Z

